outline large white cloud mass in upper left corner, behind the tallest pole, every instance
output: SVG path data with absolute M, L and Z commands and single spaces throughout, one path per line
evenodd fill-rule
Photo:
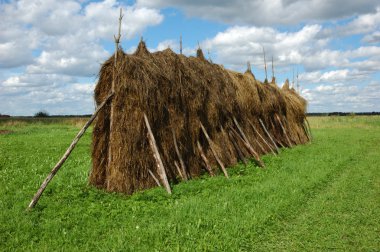
M 120 6 L 124 9 L 124 38 L 140 35 L 146 27 L 163 20 L 158 10 L 124 6 L 115 0 L 84 6 L 72 0 L 20 0 L 3 4 L 0 67 L 30 64 L 38 48 L 42 53 L 36 65 L 28 68 L 31 72 L 67 74 L 71 71 L 77 75 L 83 70 L 82 75 L 93 74 L 94 63 L 104 61 L 109 55 L 101 42 L 113 41 Z M 65 62 L 74 64 L 68 68 Z

